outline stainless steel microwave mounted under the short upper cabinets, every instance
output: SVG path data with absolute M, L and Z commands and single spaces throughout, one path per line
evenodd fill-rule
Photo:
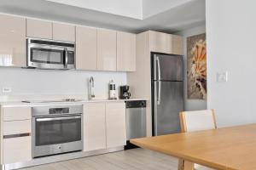
M 27 66 L 40 69 L 75 68 L 74 42 L 27 38 Z

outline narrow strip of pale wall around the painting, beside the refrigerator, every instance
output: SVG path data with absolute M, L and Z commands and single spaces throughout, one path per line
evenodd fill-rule
M 206 25 L 196 26 L 188 30 L 177 32 L 183 36 L 183 61 L 184 61 L 184 106 L 185 111 L 196 111 L 207 109 L 206 99 L 188 99 L 187 94 L 187 37 L 202 34 L 206 32 Z

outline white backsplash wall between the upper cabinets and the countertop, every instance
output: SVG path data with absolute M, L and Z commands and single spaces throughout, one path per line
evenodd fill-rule
M 87 98 L 88 80 L 95 79 L 96 98 L 108 99 L 108 82 L 113 79 L 117 87 L 126 84 L 125 72 L 111 71 L 47 71 L 0 67 L 1 95 L 75 94 Z M 3 94 L 2 89 L 12 88 Z

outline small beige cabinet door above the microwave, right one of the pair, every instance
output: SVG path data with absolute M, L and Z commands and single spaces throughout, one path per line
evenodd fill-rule
M 54 22 L 52 24 L 52 37 L 54 40 L 75 42 L 75 26 Z

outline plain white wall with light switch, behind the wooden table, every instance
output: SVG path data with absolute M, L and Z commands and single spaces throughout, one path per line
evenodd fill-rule
M 256 1 L 207 0 L 208 108 L 218 126 L 256 122 Z M 228 82 L 217 72 L 228 71 Z

